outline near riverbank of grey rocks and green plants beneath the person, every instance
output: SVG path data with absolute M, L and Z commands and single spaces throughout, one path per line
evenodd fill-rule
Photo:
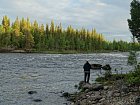
M 81 81 L 79 92 L 65 96 L 71 105 L 140 105 L 140 66 L 127 74 L 98 77 L 95 83 Z

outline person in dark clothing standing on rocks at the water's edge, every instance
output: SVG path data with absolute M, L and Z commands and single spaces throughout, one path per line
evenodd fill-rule
M 86 61 L 83 68 L 84 68 L 84 82 L 89 83 L 91 65 L 89 64 L 88 61 Z

